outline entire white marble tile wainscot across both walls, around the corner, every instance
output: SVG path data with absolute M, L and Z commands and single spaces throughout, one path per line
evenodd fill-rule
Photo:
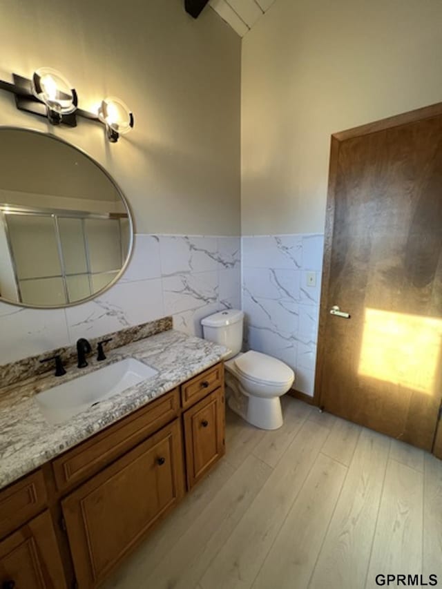
M 313 394 L 322 259 L 318 234 L 244 237 L 242 244 L 138 234 L 124 276 L 93 301 L 57 310 L 0 302 L 0 365 L 169 315 L 175 329 L 202 336 L 202 317 L 242 308 L 246 349 L 284 360 L 296 371 L 295 388 Z M 315 287 L 307 286 L 308 271 Z

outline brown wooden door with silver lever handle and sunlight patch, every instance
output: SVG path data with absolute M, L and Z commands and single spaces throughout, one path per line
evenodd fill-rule
M 332 137 L 316 400 L 431 450 L 441 406 L 442 105 Z M 349 318 L 330 314 L 332 307 Z

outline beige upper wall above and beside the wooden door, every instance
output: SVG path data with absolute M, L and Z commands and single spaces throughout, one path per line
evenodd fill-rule
M 442 100 L 440 0 L 277 0 L 242 46 L 242 233 L 323 231 L 329 137 Z

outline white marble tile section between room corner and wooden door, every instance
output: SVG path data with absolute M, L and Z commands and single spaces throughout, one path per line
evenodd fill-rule
M 242 238 L 244 347 L 271 354 L 296 372 L 294 388 L 314 393 L 324 237 Z M 314 272 L 316 285 L 307 285 Z

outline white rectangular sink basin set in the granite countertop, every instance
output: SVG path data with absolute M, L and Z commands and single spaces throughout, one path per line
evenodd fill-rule
M 62 423 L 102 400 L 152 378 L 157 372 L 139 360 L 126 358 L 52 387 L 37 394 L 35 399 L 49 423 Z

